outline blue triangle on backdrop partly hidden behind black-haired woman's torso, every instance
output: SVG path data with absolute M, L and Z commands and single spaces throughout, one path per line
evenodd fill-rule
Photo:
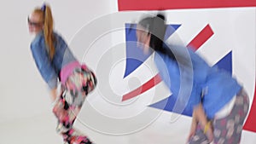
M 229 54 L 225 55 L 224 58 L 219 60 L 214 66 L 218 66 L 219 69 L 224 69 L 225 71 L 232 73 L 232 51 L 230 51 Z M 152 105 L 149 105 L 148 107 L 154 107 L 161 110 L 165 110 L 168 112 L 173 112 L 172 109 L 174 105 L 176 104 L 177 96 L 170 95 L 168 98 L 158 101 Z M 178 107 L 178 106 L 177 106 Z M 185 107 L 183 115 L 191 116 L 193 110 L 189 109 L 188 107 Z

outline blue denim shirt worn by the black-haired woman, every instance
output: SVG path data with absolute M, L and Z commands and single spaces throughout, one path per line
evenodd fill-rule
M 176 101 L 177 109 L 173 112 L 183 111 L 191 115 L 193 107 L 202 102 L 207 117 L 213 118 L 215 113 L 241 90 L 241 85 L 228 72 L 220 70 L 216 66 L 208 66 L 207 62 L 191 49 L 188 52 L 187 56 L 190 57 L 192 63 L 192 72 L 190 73 L 184 72 L 183 70 L 186 71 L 186 68 L 179 66 L 177 61 L 160 52 L 156 52 L 154 55 L 154 62 L 160 71 L 160 77 L 172 92 L 170 98 L 172 101 Z M 184 72 L 183 78 L 181 72 Z M 192 77 L 189 78 L 190 76 Z M 192 84 L 181 82 L 181 80 L 186 82 L 188 78 Z M 188 91 L 189 89 L 191 91 Z M 190 92 L 190 95 L 183 95 L 186 91 Z M 201 97 L 202 92 L 204 92 L 203 97 Z

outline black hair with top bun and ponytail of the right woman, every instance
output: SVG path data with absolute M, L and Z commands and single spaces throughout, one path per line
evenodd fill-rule
M 151 34 L 149 46 L 162 54 L 168 55 L 172 60 L 176 60 L 172 50 L 164 44 L 166 34 L 166 17 L 164 14 L 157 14 L 153 17 L 146 17 L 138 23 Z

